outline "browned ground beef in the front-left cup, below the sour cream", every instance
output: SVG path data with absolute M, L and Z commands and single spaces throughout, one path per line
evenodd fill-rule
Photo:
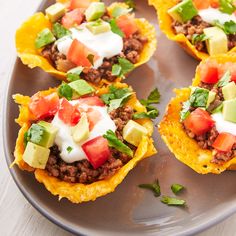
M 129 106 L 118 108 L 110 113 L 111 118 L 117 126 L 116 134 L 123 141 L 122 130 L 127 122 L 132 119 L 133 109 Z M 135 147 L 129 145 L 135 151 Z M 46 171 L 50 176 L 54 176 L 70 183 L 89 184 L 98 180 L 107 179 L 114 175 L 124 166 L 131 157 L 110 148 L 111 156 L 98 169 L 94 169 L 88 160 L 66 163 L 60 157 L 60 151 L 55 145 L 51 148 L 50 156 L 46 165 Z

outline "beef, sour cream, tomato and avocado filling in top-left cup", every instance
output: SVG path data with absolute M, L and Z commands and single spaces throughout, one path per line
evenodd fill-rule
M 52 29 L 38 33 L 35 47 L 58 71 L 80 67 L 89 82 L 114 81 L 134 68 L 148 39 L 126 4 L 106 8 L 103 2 L 86 2 L 48 7 Z

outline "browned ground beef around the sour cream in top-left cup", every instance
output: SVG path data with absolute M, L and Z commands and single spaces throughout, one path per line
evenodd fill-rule
M 119 57 L 126 58 L 131 63 L 135 64 L 139 61 L 140 54 L 148 39 L 142 36 L 139 32 L 132 35 L 130 38 L 123 39 L 123 51 Z M 59 71 L 67 72 L 68 70 L 76 67 L 75 64 L 66 59 L 66 56 L 60 53 L 56 44 L 47 45 L 41 52 L 41 55 L 48 59 L 50 63 Z M 101 79 L 114 81 L 117 77 L 113 76 L 112 65 L 118 62 L 118 56 L 112 58 L 105 58 L 103 64 L 98 68 L 85 68 L 81 77 L 88 82 L 98 84 Z

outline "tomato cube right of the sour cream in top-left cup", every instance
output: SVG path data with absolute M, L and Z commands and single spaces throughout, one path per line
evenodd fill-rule
M 138 31 L 138 26 L 134 18 L 130 15 L 119 16 L 116 19 L 116 23 L 127 38 Z

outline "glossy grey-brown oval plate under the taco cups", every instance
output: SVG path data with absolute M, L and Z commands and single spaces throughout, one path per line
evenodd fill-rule
M 186 55 L 175 43 L 160 33 L 154 10 L 146 1 L 137 2 L 137 15 L 148 18 L 157 28 L 158 50 L 151 61 L 136 69 L 126 82 L 145 98 L 158 87 L 161 94 L 160 118 L 165 106 L 174 95 L 175 87 L 191 83 L 197 62 Z M 45 1 L 40 9 L 52 2 Z M 14 71 L 5 96 L 3 135 L 8 165 L 13 161 L 12 152 L 19 127 L 14 123 L 18 107 L 12 94 L 32 95 L 38 90 L 58 84 L 40 69 L 30 70 L 16 60 Z M 159 134 L 154 134 L 159 151 L 142 161 L 119 185 L 114 193 L 95 202 L 75 205 L 63 199 L 60 202 L 33 175 L 20 171 L 16 166 L 11 174 L 28 201 L 44 216 L 64 229 L 84 235 L 186 235 L 199 232 L 236 211 L 236 175 L 226 172 L 217 175 L 199 175 L 178 162 L 168 151 Z M 137 187 L 159 179 L 162 193 L 171 195 L 173 182 L 186 186 L 181 195 L 188 203 L 187 209 L 167 207 L 149 191 Z

